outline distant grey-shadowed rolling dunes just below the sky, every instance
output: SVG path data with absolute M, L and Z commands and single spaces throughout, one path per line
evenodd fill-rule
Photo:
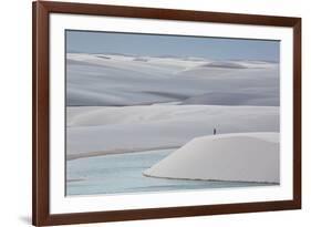
M 279 64 L 273 62 L 85 53 L 69 53 L 66 60 L 69 106 L 146 105 L 197 96 L 191 104 L 279 105 Z M 206 93 L 221 96 L 211 102 Z

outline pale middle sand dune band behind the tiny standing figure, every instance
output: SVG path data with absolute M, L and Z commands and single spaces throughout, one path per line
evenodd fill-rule
M 180 147 L 217 133 L 279 132 L 279 107 L 151 105 L 68 107 L 68 158 Z

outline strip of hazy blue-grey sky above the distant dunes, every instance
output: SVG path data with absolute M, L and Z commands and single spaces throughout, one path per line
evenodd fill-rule
M 279 62 L 280 41 L 68 30 L 66 52 Z

